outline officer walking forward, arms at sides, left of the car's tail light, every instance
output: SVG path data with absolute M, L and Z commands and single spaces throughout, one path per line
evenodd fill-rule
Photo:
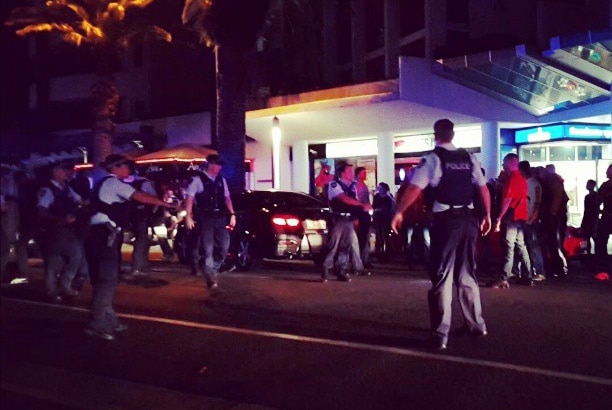
M 236 226 L 227 181 L 221 176 L 222 166 L 218 155 L 206 157 L 206 170 L 191 179 L 185 201 L 185 226 L 193 229 L 197 222 L 200 234 L 198 267 L 204 265 L 204 279 L 209 289 L 217 287 L 217 274 L 229 249 L 230 234 L 226 227 Z

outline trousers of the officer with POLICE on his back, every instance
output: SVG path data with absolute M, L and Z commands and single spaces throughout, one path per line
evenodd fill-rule
M 449 211 L 434 213 L 429 259 L 432 286 L 428 301 L 433 336 L 442 342 L 447 341 L 451 327 L 453 282 L 466 326 L 486 330 L 476 280 L 477 237 L 476 216 L 453 215 Z

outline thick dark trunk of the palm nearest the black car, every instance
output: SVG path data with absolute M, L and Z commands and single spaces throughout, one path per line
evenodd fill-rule
M 230 191 L 244 189 L 247 67 L 244 53 L 215 47 L 217 75 L 217 149 Z

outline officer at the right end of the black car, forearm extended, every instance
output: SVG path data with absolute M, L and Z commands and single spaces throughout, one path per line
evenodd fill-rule
M 359 213 L 369 212 L 372 209 L 369 203 L 357 200 L 353 165 L 346 161 L 339 161 L 336 164 L 336 178 L 329 184 L 328 198 L 332 225 L 321 280 L 326 282 L 330 273 L 335 271 L 339 281 L 350 282 L 347 271 L 355 274 L 365 273 L 355 232 L 355 220 Z M 351 268 L 347 270 L 346 265 L 350 265 Z

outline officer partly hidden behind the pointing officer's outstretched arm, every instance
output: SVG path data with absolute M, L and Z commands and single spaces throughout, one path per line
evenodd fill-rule
M 130 175 L 123 182 L 130 184 L 137 191 L 157 196 L 153 183 L 147 178 L 136 174 L 136 164 L 129 163 Z M 149 205 L 132 202 L 130 204 L 131 230 L 134 234 L 134 250 L 132 252 L 132 275 L 142 275 L 149 263 L 149 221 L 153 209 Z

